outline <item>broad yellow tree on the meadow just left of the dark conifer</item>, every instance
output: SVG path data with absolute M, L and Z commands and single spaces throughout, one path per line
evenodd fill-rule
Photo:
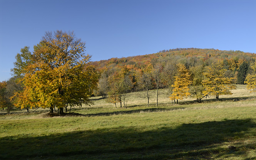
M 219 95 L 232 95 L 231 90 L 236 88 L 233 84 L 234 78 L 225 77 L 225 72 L 223 61 L 214 62 L 205 68 L 202 80 L 204 95 L 214 95 L 217 101 Z

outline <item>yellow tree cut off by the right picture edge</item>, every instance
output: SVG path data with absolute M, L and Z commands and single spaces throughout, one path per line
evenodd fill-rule
M 244 83 L 247 84 L 246 88 L 248 90 L 251 90 L 251 92 L 256 91 L 256 62 L 253 62 L 250 64 L 251 68 L 251 73 L 249 73 L 246 78 Z

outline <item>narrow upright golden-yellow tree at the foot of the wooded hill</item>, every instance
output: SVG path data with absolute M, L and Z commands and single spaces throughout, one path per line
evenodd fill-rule
M 189 93 L 189 85 L 191 84 L 190 80 L 190 73 L 186 69 L 186 66 L 184 64 L 178 64 L 177 65 L 177 75 L 174 77 L 174 84 L 172 85 L 172 95 L 169 97 L 171 100 L 182 100 L 183 98 L 187 98 Z

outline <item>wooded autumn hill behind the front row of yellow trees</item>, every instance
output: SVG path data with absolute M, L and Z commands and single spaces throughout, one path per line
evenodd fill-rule
M 233 79 L 233 84 L 244 84 L 246 74 L 249 73 L 249 64 L 255 60 L 256 54 L 242 51 L 177 48 L 162 50 L 154 54 L 142 56 L 100 60 L 91 62 L 90 64 L 94 65 L 100 74 L 99 90 L 95 91 L 94 94 L 97 96 L 106 96 L 109 94 L 109 88 L 111 88 L 111 86 L 113 87 L 113 82 L 127 75 L 132 81 L 129 91 L 142 90 L 143 87 L 140 84 L 142 83 L 142 75 L 152 72 L 152 70 L 156 69 L 156 66 L 159 67 L 159 72 L 163 72 L 162 74 L 164 74 L 165 77 L 159 85 L 157 85 L 155 81 L 156 78 L 154 78 L 154 76 L 151 77 L 153 84 L 149 89 L 170 88 L 177 74 L 177 64 L 186 66 L 186 69 L 189 70 L 191 74 L 191 81 L 193 81 L 197 75 L 201 75 L 202 78 L 202 73 L 206 72 L 207 66 L 221 61 L 221 68 L 224 69 L 224 77 Z M 245 67 L 245 69 L 243 68 L 242 70 L 239 69 L 239 67 Z M 241 73 L 239 73 L 239 71 Z

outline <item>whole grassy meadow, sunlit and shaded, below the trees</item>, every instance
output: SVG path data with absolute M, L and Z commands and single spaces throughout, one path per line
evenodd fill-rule
M 52 118 L 48 109 L 0 111 L 0 160 L 254 160 L 256 93 L 233 93 L 171 104 L 161 90 L 149 107 L 130 93 L 127 108 L 93 97 L 93 106 Z

